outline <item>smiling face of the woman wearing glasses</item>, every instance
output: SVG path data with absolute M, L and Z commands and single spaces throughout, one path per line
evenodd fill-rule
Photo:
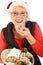
M 28 18 L 28 13 L 24 7 L 16 6 L 10 14 L 14 26 L 25 26 Z

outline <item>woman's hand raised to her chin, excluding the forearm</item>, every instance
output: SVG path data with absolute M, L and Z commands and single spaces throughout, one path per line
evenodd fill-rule
M 23 36 L 26 39 L 27 39 L 27 37 L 30 37 L 30 35 L 31 35 L 30 30 L 26 27 L 16 28 L 16 31 L 18 34 L 20 34 L 21 36 Z

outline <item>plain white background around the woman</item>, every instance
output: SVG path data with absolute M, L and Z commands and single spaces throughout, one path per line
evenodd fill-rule
M 10 16 L 6 12 L 6 6 L 10 1 L 12 0 L 0 0 L 0 31 L 10 22 Z M 30 19 L 39 24 L 43 34 L 43 0 L 26 0 L 26 2 L 28 2 L 29 5 Z M 43 65 L 43 58 L 39 58 Z

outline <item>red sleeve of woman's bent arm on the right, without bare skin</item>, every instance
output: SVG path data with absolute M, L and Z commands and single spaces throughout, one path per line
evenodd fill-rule
M 34 37 L 36 42 L 32 45 L 32 48 L 36 54 L 43 57 L 43 37 L 41 29 L 37 23 L 35 25 Z

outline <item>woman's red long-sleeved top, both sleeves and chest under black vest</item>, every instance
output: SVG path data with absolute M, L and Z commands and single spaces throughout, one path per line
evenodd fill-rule
M 40 30 L 39 25 L 36 23 L 35 30 L 34 30 L 34 37 L 36 39 L 35 44 L 32 45 L 33 50 L 39 56 L 43 57 L 43 39 L 42 39 L 42 32 Z M 23 47 L 23 39 L 15 39 L 20 49 Z M 0 54 L 1 52 L 7 48 L 7 43 L 4 38 L 3 32 L 0 33 Z M 1 59 L 0 59 L 1 62 Z

